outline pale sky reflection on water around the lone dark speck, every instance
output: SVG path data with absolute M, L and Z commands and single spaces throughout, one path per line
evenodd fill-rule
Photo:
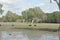
M 11 34 L 11 35 L 10 35 Z M 2 40 L 29 40 L 22 32 L 2 32 Z

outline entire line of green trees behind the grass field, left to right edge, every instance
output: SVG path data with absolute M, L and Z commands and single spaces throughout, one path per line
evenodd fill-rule
M 0 22 L 34 22 L 34 23 L 60 23 L 60 12 L 44 13 L 40 7 L 29 8 L 17 15 L 8 11 L 0 18 Z

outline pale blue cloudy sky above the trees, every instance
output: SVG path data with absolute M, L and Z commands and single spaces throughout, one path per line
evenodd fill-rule
M 50 3 L 50 0 L 0 0 L 0 3 L 3 4 L 4 13 L 12 11 L 18 15 L 21 15 L 22 11 L 33 7 L 40 7 L 45 13 L 58 11 L 56 2 L 52 1 Z

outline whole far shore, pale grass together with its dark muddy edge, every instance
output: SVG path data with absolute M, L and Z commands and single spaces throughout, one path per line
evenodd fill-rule
M 59 27 L 60 24 L 53 24 L 53 23 L 37 23 L 37 24 L 16 23 L 16 22 L 0 23 L 0 30 L 24 29 L 24 30 L 41 30 L 41 31 L 57 32 L 60 31 Z

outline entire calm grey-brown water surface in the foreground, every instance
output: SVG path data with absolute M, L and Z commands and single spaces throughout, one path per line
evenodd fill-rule
M 59 40 L 58 32 L 39 30 L 0 31 L 0 40 Z

